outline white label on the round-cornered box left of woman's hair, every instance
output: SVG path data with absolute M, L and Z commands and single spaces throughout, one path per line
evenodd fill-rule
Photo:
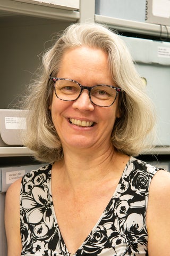
M 26 119 L 25 117 L 5 117 L 5 128 L 7 130 L 25 130 Z

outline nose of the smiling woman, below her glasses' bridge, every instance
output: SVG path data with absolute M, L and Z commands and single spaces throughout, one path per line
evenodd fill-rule
M 88 90 L 82 91 L 79 98 L 73 102 L 72 107 L 75 109 L 77 108 L 81 111 L 94 110 L 94 105 L 92 104 L 92 102 L 90 100 Z

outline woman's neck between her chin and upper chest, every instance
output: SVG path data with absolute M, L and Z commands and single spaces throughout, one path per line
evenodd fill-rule
M 61 178 L 73 186 L 102 180 L 110 172 L 113 172 L 116 155 L 117 151 L 112 145 L 105 150 L 91 154 L 84 152 L 78 154 L 71 150 L 65 150 L 64 159 L 60 163 Z

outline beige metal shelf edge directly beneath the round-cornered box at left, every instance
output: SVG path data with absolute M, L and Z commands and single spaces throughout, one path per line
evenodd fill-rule
M 1 157 L 11 156 L 32 156 L 33 153 L 27 147 L 0 147 L 0 159 Z

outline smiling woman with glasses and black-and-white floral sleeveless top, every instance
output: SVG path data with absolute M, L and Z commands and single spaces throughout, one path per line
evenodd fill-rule
M 26 105 L 25 145 L 52 164 L 7 191 L 8 256 L 170 255 L 169 173 L 133 157 L 155 116 L 120 37 L 67 28 Z

